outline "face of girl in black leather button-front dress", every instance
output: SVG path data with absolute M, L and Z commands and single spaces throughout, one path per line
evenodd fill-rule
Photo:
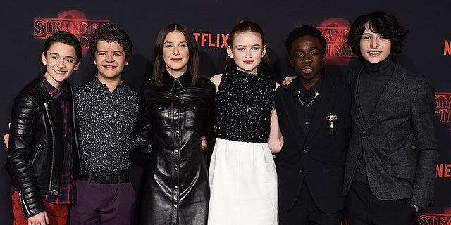
M 163 60 L 166 63 L 166 70 L 173 77 L 180 77 L 186 72 L 190 50 L 182 32 L 175 30 L 166 35 L 163 43 Z

